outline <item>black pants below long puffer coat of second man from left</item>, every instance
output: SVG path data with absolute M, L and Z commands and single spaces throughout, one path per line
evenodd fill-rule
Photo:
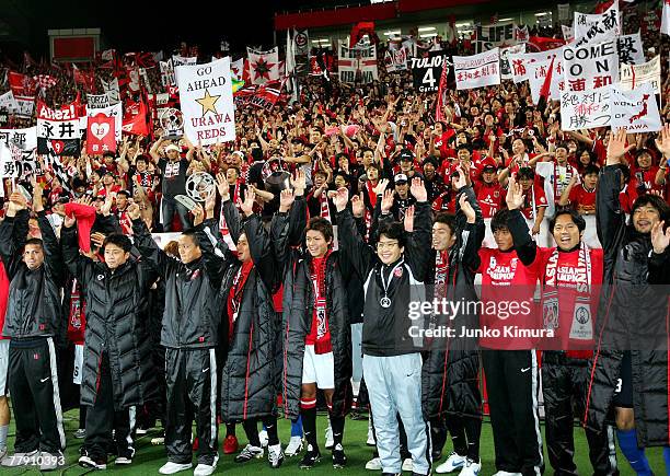
M 114 384 L 109 358 L 103 352 L 95 404 L 86 407 L 86 436 L 84 451 L 94 461 L 107 461 L 107 453 L 132 458 L 135 455 L 136 407 L 114 409 Z M 114 438 L 112 438 L 114 430 Z

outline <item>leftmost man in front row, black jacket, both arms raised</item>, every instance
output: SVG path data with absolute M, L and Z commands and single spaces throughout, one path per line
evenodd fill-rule
M 65 272 L 38 186 L 33 201 L 42 240 L 26 241 L 28 212 L 21 194 L 11 195 L 0 224 L 0 254 L 10 280 L 2 334 L 11 338 L 8 376 L 16 417 L 15 454 L 2 465 L 21 466 L 39 457 L 41 469 L 55 469 L 63 463 L 66 444 L 54 345 L 65 332 L 60 310 Z

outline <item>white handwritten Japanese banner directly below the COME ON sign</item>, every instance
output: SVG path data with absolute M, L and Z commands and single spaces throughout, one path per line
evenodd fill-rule
M 611 86 L 598 91 L 565 91 L 561 94 L 561 128 L 592 129 L 610 125 Z

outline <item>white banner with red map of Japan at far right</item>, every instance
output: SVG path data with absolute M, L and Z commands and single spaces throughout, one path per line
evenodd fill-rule
M 644 83 L 632 91 L 612 88 L 612 128 L 634 132 L 656 132 L 661 129 L 660 114 L 651 83 Z

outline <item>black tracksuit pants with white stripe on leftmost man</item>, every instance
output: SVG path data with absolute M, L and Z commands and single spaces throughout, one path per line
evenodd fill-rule
M 56 348 L 50 337 L 11 339 L 9 390 L 16 421 L 16 453 L 65 449 Z

